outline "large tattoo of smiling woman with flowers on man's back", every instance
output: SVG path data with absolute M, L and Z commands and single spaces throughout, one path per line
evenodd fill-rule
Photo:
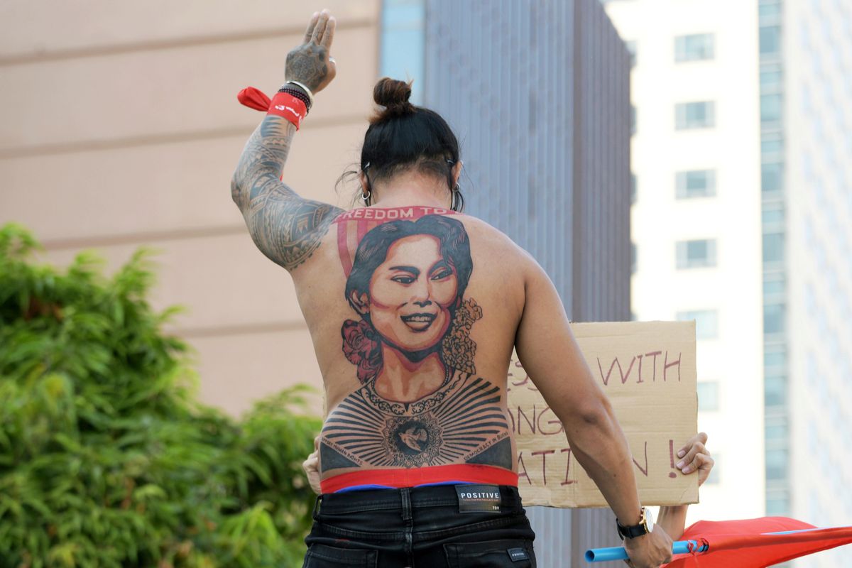
M 476 376 L 470 330 L 482 308 L 464 297 L 468 234 L 446 209 L 354 209 L 337 220 L 357 318 L 343 353 L 361 387 L 325 421 L 324 472 L 474 463 L 512 469 L 502 393 Z

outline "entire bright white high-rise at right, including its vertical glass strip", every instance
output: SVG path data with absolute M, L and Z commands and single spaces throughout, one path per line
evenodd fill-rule
M 635 62 L 634 316 L 699 334 L 689 519 L 848 525 L 852 3 L 604 4 Z

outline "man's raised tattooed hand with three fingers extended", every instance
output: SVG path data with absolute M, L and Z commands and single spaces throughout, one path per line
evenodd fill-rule
M 337 21 L 328 10 L 314 12 L 305 31 L 304 42 L 287 54 L 285 80 L 302 83 L 315 94 L 337 75 L 337 63 L 331 58 L 331 41 Z

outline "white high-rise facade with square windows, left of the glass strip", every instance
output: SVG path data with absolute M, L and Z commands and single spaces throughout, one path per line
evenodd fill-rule
M 633 317 L 694 319 L 716 466 L 689 519 L 764 512 L 757 8 L 606 3 L 633 55 Z M 735 419 L 734 419 L 735 417 Z

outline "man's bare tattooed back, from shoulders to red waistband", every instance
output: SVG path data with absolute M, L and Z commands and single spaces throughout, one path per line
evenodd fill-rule
M 326 491 L 387 475 L 514 482 L 506 370 L 530 262 L 493 227 L 447 209 L 337 215 L 293 272 L 325 382 Z M 373 471 L 440 466 L 453 467 Z

